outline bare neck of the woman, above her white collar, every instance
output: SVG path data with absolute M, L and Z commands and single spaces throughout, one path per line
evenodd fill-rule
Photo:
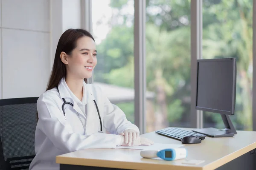
M 84 79 L 77 79 L 75 77 L 66 76 L 65 81 L 70 91 L 79 99 L 83 97 L 83 81 Z

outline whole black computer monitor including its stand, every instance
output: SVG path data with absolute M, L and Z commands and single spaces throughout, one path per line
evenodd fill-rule
M 225 129 L 193 130 L 210 137 L 229 137 L 236 134 L 230 120 L 236 104 L 236 58 L 198 59 L 196 109 L 220 113 Z

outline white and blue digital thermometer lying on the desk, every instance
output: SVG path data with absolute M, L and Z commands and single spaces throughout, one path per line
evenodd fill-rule
M 185 159 L 187 150 L 185 148 L 163 149 L 163 150 L 142 150 L 140 156 L 143 158 L 161 158 L 166 161 Z

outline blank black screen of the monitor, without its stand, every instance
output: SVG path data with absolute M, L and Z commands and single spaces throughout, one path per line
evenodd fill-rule
M 234 71 L 234 59 L 198 60 L 198 110 L 233 114 Z

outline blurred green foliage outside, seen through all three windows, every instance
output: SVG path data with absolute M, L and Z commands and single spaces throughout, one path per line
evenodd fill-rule
M 111 0 L 115 12 L 111 31 L 97 46 L 95 81 L 134 88 L 134 28 L 128 24 L 134 16 L 124 12 L 131 2 Z M 230 117 L 238 130 L 252 130 L 252 6 L 253 0 L 203 1 L 203 58 L 237 58 L 236 112 Z M 170 126 L 189 126 L 190 0 L 146 0 L 146 20 L 147 90 L 165 92 Z M 134 104 L 118 106 L 134 122 Z M 219 114 L 205 113 L 204 121 L 224 127 Z

